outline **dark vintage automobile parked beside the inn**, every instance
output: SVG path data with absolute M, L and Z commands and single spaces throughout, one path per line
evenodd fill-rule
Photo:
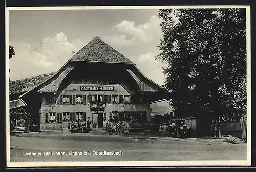
M 189 137 L 191 128 L 186 126 L 184 119 L 170 119 L 168 120 L 167 131 L 173 137 Z

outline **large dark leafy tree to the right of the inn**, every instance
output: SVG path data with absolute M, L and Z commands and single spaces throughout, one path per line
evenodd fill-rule
M 165 86 L 175 113 L 214 111 L 209 118 L 218 128 L 228 106 L 245 114 L 245 9 L 161 9 L 159 17 L 163 38 L 156 58 L 168 64 Z

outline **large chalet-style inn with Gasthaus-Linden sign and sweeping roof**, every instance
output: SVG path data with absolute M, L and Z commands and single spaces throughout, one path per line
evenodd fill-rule
M 10 82 L 10 94 L 10 109 L 24 106 L 41 132 L 88 119 L 99 128 L 112 119 L 150 121 L 150 103 L 168 97 L 97 36 L 57 72 Z

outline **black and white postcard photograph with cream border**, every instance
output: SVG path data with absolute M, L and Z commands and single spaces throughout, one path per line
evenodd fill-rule
M 7 7 L 8 167 L 251 165 L 250 6 Z

